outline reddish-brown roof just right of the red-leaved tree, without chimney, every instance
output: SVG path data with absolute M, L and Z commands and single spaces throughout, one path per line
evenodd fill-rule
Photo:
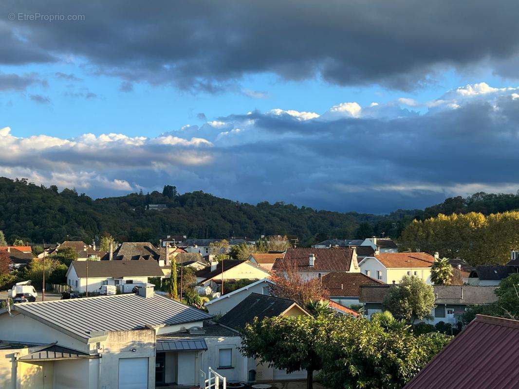
M 322 286 L 330 296 L 359 296 L 361 285 L 385 285 L 362 273 L 332 272 L 321 276 Z

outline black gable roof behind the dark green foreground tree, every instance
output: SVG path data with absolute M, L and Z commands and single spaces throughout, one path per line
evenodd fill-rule
M 255 317 L 262 320 L 265 317 L 279 316 L 294 306 L 308 315 L 295 301 L 251 293 L 236 307 L 223 315 L 218 323 L 228 328 L 244 328 L 246 324 L 252 323 Z

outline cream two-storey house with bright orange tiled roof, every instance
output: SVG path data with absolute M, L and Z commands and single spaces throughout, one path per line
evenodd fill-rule
M 365 257 L 359 265 L 363 274 L 388 284 L 400 282 L 405 275 L 430 284 L 434 258 L 427 253 L 379 253 Z

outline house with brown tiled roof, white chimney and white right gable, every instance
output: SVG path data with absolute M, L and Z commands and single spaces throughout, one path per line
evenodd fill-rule
M 295 266 L 304 280 L 312 280 L 330 272 L 360 272 L 356 247 L 289 248 L 278 258 L 272 271 L 284 272 Z

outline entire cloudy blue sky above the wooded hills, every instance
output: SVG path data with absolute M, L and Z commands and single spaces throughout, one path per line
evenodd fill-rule
M 0 176 L 386 213 L 519 189 L 519 3 L 0 4 Z

